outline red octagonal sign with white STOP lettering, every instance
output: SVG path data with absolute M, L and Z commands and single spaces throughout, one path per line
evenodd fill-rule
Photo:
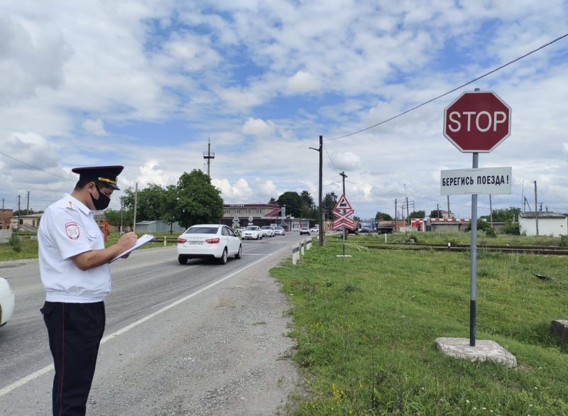
M 464 92 L 444 110 L 444 136 L 461 152 L 491 152 L 510 134 L 510 113 L 494 92 Z

